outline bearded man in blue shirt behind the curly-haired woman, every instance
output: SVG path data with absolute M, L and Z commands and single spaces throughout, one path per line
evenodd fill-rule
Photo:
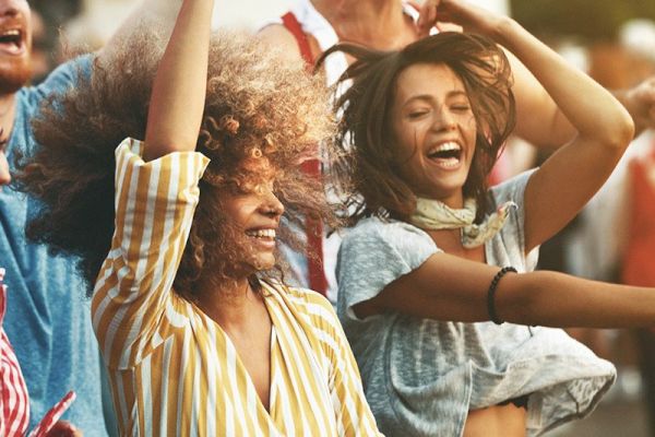
M 143 19 L 174 22 L 180 0 L 146 0 L 103 49 L 129 44 Z M 48 96 L 74 86 L 90 70 L 81 57 L 59 67 L 40 85 L 31 78 L 31 11 L 26 0 L 0 0 L 0 177 L 9 178 L 19 156 L 36 146 L 29 125 Z M 38 210 L 35 200 L 0 191 L 0 267 L 7 270 L 10 311 L 4 329 L 15 350 L 31 398 L 33 428 L 62 395 L 75 390 L 76 401 L 63 418 L 86 436 L 106 436 L 99 354 L 91 327 L 90 303 L 74 260 L 52 255 L 26 240 L 25 227 Z

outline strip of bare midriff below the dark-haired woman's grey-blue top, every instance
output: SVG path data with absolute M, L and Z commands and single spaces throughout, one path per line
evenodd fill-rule
M 464 437 L 525 437 L 527 411 L 514 404 L 471 410 Z

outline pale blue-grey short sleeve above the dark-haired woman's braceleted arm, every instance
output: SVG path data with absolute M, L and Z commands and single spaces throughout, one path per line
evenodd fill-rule
M 338 251 L 338 312 L 357 320 L 353 306 L 376 297 L 396 279 L 440 252 L 428 234 L 407 223 L 366 218 L 346 234 Z

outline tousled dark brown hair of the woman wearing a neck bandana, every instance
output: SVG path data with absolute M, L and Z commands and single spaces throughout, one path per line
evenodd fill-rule
M 336 98 L 341 121 L 335 144 L 342 153 L 333 165 L 335 189 L 347 203 L 352 223 L 370 215 L 405 218 L 416 209 L 416 196 L 401 177 L 390 118 L 397 78 L 417 63 L 445 64 L 464 83 L 477 125 L 476 152 L 464 196 L 476 199 L 477 220 L 483 218 L 487 175 L 515 125 L 512 75 L 502 50 L 483 36 L 444 32 L 400 51 L 338 44 L 323 54 L 318 66 L 335 51 L 356 59 L 336 85 L 344 90 L 352 81 Z

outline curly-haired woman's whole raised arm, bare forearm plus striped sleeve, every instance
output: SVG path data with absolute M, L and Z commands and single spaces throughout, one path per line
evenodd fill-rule
M 195 149 L 212 7 L 213 0 L 183 1 L 155 76 L 143 150 L 127 140 L 116 152 L 116 232 L 92 304 L 110 368 L 133 366 L 148 353 L 148 339 L 165 339 L 180 326 L 175 315 L 182 308 L 171 287 L 209 161 L 171 152 Z M 145 163 L 140 153 L 153 161 Z

